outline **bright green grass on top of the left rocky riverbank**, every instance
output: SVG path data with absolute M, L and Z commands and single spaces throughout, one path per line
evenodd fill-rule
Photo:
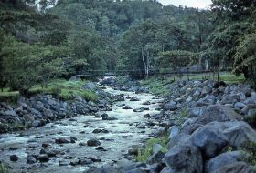
M 53 80 L 48 84 L 48 87 L 42 87 L 40 85 L 32 86 L 29 89 L 30 95 L 36 95 L 38 93 L 46 93 L 55 95 L 63 100 L 71 100 L 75 97 L 83 97 L 87 101 L 95 102 L 98 97 L 91 91 L 83 89 L 84 81 L 67 81 L 64 79 Z M 4 92 L 0 92 L 0 97 L 19 97 L 18 91 L 10 92 L 5 88 Z M 8 101 L 8 100 L 7 100 Z

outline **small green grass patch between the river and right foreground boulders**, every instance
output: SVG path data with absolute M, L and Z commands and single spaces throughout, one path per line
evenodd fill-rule
M 167 134 L 162 137 L 150 138 L 146 141 L 145 147 L 139 149 L 138 156 L 136 156 L 135 160 L 139 162 L 146 162 L 146 159 L 149 158 L 153 154 L 153 145 L 160 144 L 162 148 L 162 152 L 167 152 L 166 145 L 168 143 Z

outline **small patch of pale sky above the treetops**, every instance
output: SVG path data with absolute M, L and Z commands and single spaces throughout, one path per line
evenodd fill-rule
M 158 0 L 163 5 L 183 5 L 187 7 L 206 8 L 211 0 Z

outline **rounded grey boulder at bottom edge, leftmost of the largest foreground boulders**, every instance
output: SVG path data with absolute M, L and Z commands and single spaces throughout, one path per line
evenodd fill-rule
M 178 145 L 165 154 L 165 163 L 174 172 L 200 173 L 203 159 L 199 149 L 192 144 Z

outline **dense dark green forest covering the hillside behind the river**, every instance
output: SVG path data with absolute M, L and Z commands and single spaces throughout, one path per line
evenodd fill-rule
M 1 0 L 0 86 L 26 93 L 56 77 L 116 70 L 142 78 L 206 61 L 255 86 L 255 19 L 255 0 L 213 0 L 208 9 L 155 0 Z

